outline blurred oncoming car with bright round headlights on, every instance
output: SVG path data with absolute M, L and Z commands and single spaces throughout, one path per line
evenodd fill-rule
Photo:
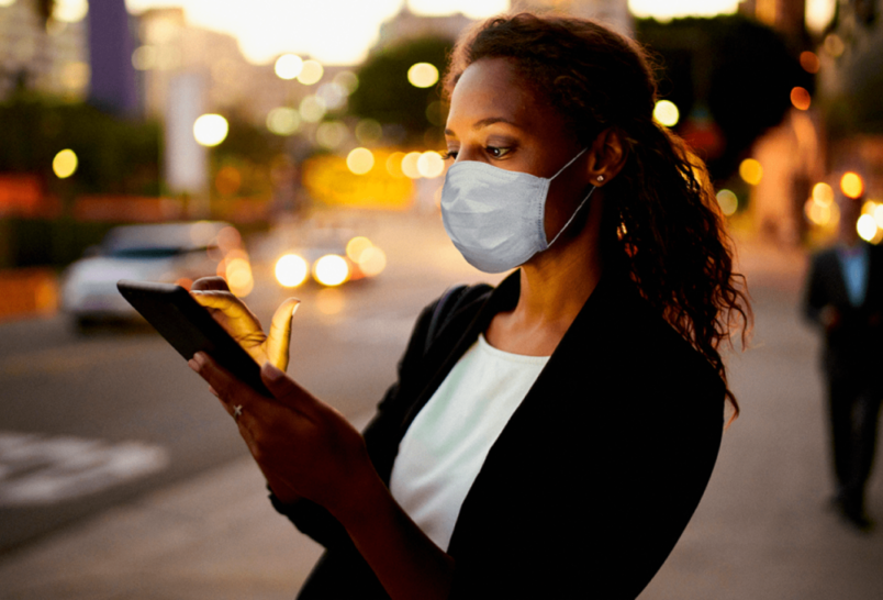
M 335 287 L 376 277 L 387 266 L 387 256 L 370 240 L 336 227 L 306 229 L 287 244 L 276 262 L 276 280 L 286 288 L 310 281 Z

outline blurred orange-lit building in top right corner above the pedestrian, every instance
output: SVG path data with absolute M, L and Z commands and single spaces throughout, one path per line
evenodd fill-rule
M 854 171 L 867 199 L 883 199 L 883 1 L 830 0 L 815 14 L 811 4 L 818 11 L 821 3 L 745 0 L 740 7 L 785 35 L 816 75 L 812 97 L 792 95 L 790 116 L 753 148 L 764 169 L 752 190 L 753 222 L 783 244 L 834 231 L 836 216 L 809 222 L 816 184 L 838 189 L 842 175 Z

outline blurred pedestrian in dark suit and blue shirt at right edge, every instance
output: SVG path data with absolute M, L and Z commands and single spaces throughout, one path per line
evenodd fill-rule
M 832 501 L 849 523 L 868 530 L 864 488 L 883 398 L 883 248 L 859 236 L 861 199 L 840 196 L 838 205 L 837 243 L 813 257 L 804 312 L 825 335 Z

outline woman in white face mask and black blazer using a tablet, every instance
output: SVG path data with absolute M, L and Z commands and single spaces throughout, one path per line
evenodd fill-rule
M 653 122 L 641 51 L 590 21 L 492 19 L 446 90 L 445 226 L 479 268 L 521 268 L 424 310 L 364 436 L 282 373 L 291 303 L 265 340 L 194 286 L 275 399 L 191 366 L 328 548 L 302 598 L 635 598 L 736 407 L 717 347 L 749 308 L 705 170 Z

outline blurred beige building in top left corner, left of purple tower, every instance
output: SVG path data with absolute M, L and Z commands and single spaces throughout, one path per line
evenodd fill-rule
M 47 19 L 37 2 L 0 2 L 0 100 L 16 87 L 82 100 L 89 89 L 86 13 Z

